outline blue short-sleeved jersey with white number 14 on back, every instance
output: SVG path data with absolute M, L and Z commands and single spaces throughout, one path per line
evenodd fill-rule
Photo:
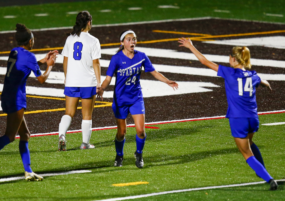
M 261 79 L 257 73 L 219 65 L 217 75 L 225 79 L 228 102 L 226 118 L 258 118 L 255 88 Z

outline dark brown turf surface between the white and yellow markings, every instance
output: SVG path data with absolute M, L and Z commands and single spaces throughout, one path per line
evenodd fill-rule
M 178 32 L 192 32 L 203 33 L 211 35 L 221 34 L 236 34 L 236 33 L 249 33 L 249 32 L 264 32 L 273 30 L 285 30 L 285 25 L 281 24 L 269 24 L 269 23 L 257 23 L 257 22 L 243 22 L 243 21 L 231 21 L 231 20 L 194 20 L 184 22 L 163 22 L 156 24 L 139 24 L 130 26 L 111 26 L 111 27 L 96 27 L 92 28 L 90 34 L 97 37 L 101 44 L 105 43 L 117 43 L 119 41 L 119 35 L 123 30 L 132 29 L 137 33 L 138 41 L 148 41 L 157 39 L 168 39 L 178 37 L 190 37 L 190 35 L 178 35 L 169 33 L 155 33 L 152 30 L 166 30 L 166 31 L 178 31 Z M 65 32 L 69 30 L 52 30 L 52 31 L 38 31 L 33 32 L 35 37 L 34 49 L 47 48 L 47 47 L 63 47 L 66 35 Z M 1 51 L 10 51 L 16 47 L 14 33 L 5 33 L 1 35 Z M 268 34 L 262 36 L 273 35 L 285 35 L 285 33 Z M 231 37 L 246 38 L 246 37 L 259 37 L 260 35 L 243 36 L 243 37 Z M 216 38 L 223 39 L 223 38 Z M 212 55 L 229 55 L 232 46 L 231 45 L 215 45 L 202 43 L 200 41 L 193 42 L 195 47 L 203 54 Z M 152 47 L 160 49 L 174 49 L 181 52 L 190 52 L 190 50 L 184 47 L 178 47 L 176 41 L 150 43 L 150 44 L 138 44 L 138 47 Z M 108 46 L 102 48 L 112 48 L 118 46 Z M 285 60 L 285 50 L 250 46 L 252 58 L 259 59 L 272 59 L 272 60 Z M 46 53 L 47 51 L 34 52 Z M 61 50 L 60 50 L 61 52 Z M 8 54 L 2 54 L 1 56 L 8 56 Z M 197 68 L 206 68 L 199 61 L 183 60 L 183 59 L 171 59 L 171 58 L 158 58 L 149 56 L 153 64 L 166 64 L 175 66 L 190 66 Z M 111 55 L 102 55 L 102 59 L 111 59 Z M 229 65 L 226 63 L 219 63 L 222 65 Z M 7 63 L 0 61 L 0 66 L 7 66 Z M 45 66 L 41 66 L 42 70 Z M 258 73 L 268 74 L 285 74 L 285 68 L 253 66 L 253 70 Z M 56 64 L 53 71 L 62 72 L 62 65 Z M 102 68 L 102 75 L 105 75 L 107 68 Z M 209 87 L 212 92 L 203 93 L 190 93 L 183 95 L 172 95 L 163 97 L 150 97 L 144 98 L 146 108 L 146 122 L 165 121 L 165 120 L 179 120 L 187 118 L 209 117 L 225 115 L 227 111 L 227 100 L 225 95 L 224 80 L 223 78 L 207 77 L 207 76 L 195 76 L 186 74 L 173 74 L 163 73 L 167 78 L 176 81 L 202 81 L 211 82 L 221 87 Z M 149 73 L 142 73 L 141 79 L 154 78 Z M 0 83 L 3 83 L 4 76 L 0 75 Z M 102 80 L 103 81 L 103 80 Z M 270 94 L 265 88 L 259 87 L 257 89 L 257 104 L 258 111 L 272 111 L 272 110 L 284 110 L 284 86 L 285 81 L 269 81 L 273 89 L 273 93 Z M 44 83 L 40 85 L 35 78 L 28 78 L 27 86 L 36 87 L 54 87 L 63 89 L 64 85 L 61 84 L 49 84 Z M 142 86 L 143 87 L 143 86 Z M 107 90 L 113 91 L 112 87 Z M 159 90 L 159 89 L 157 89 Z M 169 88 L 169 90 L 172 90 Z M 112 99 L 104 99 L 104 101 L 112 102 Z M 80 106 L 80 104 L 79 104 Z M 65 102 L 51 99 L 38 99 L 27 98 L 27 111 L 43 110 L 43 109 L 55 109 L 64 108 Z M 1 112 L 2 113 L 2 112 Z M 26 114 L 25 118 L 31 133 L 46 133 L 58 131 L 58 124 L 60 119 L 64 115 L 64 111 L 58 112 L 44 112 L 38 114 Z M 81 129 L 81 111 L 78 110 L 70 130 Z M 6 117 L 0 117 L 0 135 L 5 132 Z M 115 125 L 115 118 L 111 107 L 94 108 L 92 127 L 103 127 Z M 133 123 L 131 116 L 127 118 L 127 123 Z

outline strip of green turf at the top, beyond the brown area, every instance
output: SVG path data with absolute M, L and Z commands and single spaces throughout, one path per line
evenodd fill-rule
M 67 14 L 67 12 L 82 10 L 88 10 L 92 14 L 93 24 L 205 16 L 284 23 L 284 3 L 283 0 L 117 0 L 0 7 L 0 31 L 14 30 L 17 23 L 26 24 L 30 29 L 73 26 L 76 14 Z M 179 8 L 158 8 L 160 5 L 172 5 Z M 142 9 L 128 10 L 130 7 Z M 111 12 L 100 12 L 101 10 L 111 10 Z M 220 12 L 215 12 L 215 10 L 220 10 Z M 45 13 L 48 16 L 34 16 Z M 267 16 L 266 14 L 277 14 L 278 16 Z M 15 18 L 3 18 L 4 16 L 15 16 Z

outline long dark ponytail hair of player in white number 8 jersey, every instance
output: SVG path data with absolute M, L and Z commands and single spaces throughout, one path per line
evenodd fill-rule
M 85 29 L 87 23 L 92 20 L 92 16 L 88 11 L 81 11 L 76 16 L 76 22 L 73 26 L 73 31 L 71 33 L 66 33 L 66 35 L 78 35 L 80 36 L 81 30 Z

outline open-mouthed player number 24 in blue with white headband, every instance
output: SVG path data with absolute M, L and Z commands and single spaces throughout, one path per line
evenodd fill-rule
M 107 70 L 107 77 L 99 88 L 98 96 L 103 101 L 103 92 L 109 86 L 113 74 L 115 73 L 116 84 L 114 87 L 114 99 L 112 109 L 115 114 L 118 126 L 115 137 L 116 158 L 114 166 L 122 166 L 123 147 L 127 129 L 126 118 L 131 113 L 136 128 L 137 150 L 135 152 L 136 166 L 143 168 L 143 147 L 146 139 L 144 129 L 144 101 L 140 85 L 142 68 L 144 72 L 150 72 L 154 78 L 168 84 L 174 90 L 178 89 L 175 81 L 169 80 L 161 73 L 157 72 L 151 64 L 149 58 L 142 52 L 136 51 L 137 35 L 132 30 L 123 31 L 120 35 L 121 47 L 117 54 L 112 56 Z

